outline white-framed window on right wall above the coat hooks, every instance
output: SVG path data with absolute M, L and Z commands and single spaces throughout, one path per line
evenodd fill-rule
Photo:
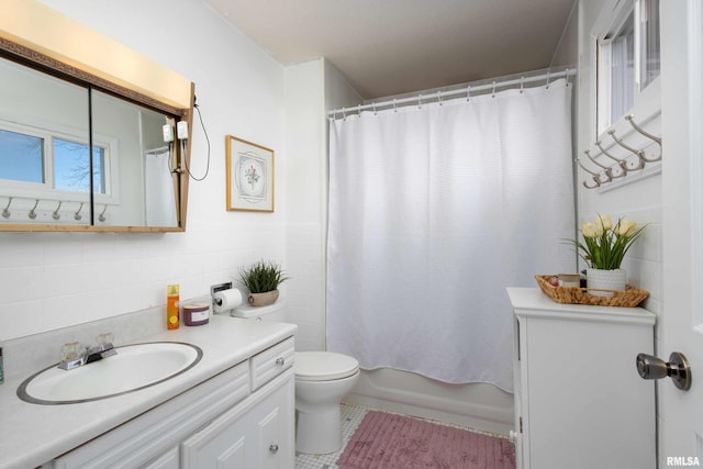
M 598 38 L 598 133 L 627 114 L 660 72 L 659 0 L 624 2 Z

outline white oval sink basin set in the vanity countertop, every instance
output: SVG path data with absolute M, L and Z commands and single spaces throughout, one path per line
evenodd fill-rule
M 194 367 L 202 350 L 179 342 L 115 347 L 116 355 L 72 370 L 56 365 L 27 378 L 18 395 L 36 404 L 72 404 L 138 391 Z

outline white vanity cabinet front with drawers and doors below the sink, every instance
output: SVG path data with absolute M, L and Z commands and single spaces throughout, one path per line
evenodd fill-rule
M 293 468 L 293 350 L 289 337 L 44 467 Z

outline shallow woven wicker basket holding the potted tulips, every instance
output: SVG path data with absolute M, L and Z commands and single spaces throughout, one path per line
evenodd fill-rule
M 554 287 L 549 283 L 553 276 L 535 276 L 537 284 L 549 298 L 557 303 L 568 304 L 592 304 L 599 306 L 621 306 L 635 308 L 641 303 L 649 292 L 638 290 L 632 286 L 625 287 L 625 290 L 598 290 L 613 292 L 612 297 L 595 297 L 589 294 L 585 288 L 579 287 Z M 589 290 L 595 290 L 593 288 Z

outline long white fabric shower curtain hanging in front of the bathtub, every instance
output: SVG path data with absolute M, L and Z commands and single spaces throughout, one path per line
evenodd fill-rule
M 505 288 L 576 268 L 570 94 L 559 80 L 331 122 L 328 349 L 512 391 Z

